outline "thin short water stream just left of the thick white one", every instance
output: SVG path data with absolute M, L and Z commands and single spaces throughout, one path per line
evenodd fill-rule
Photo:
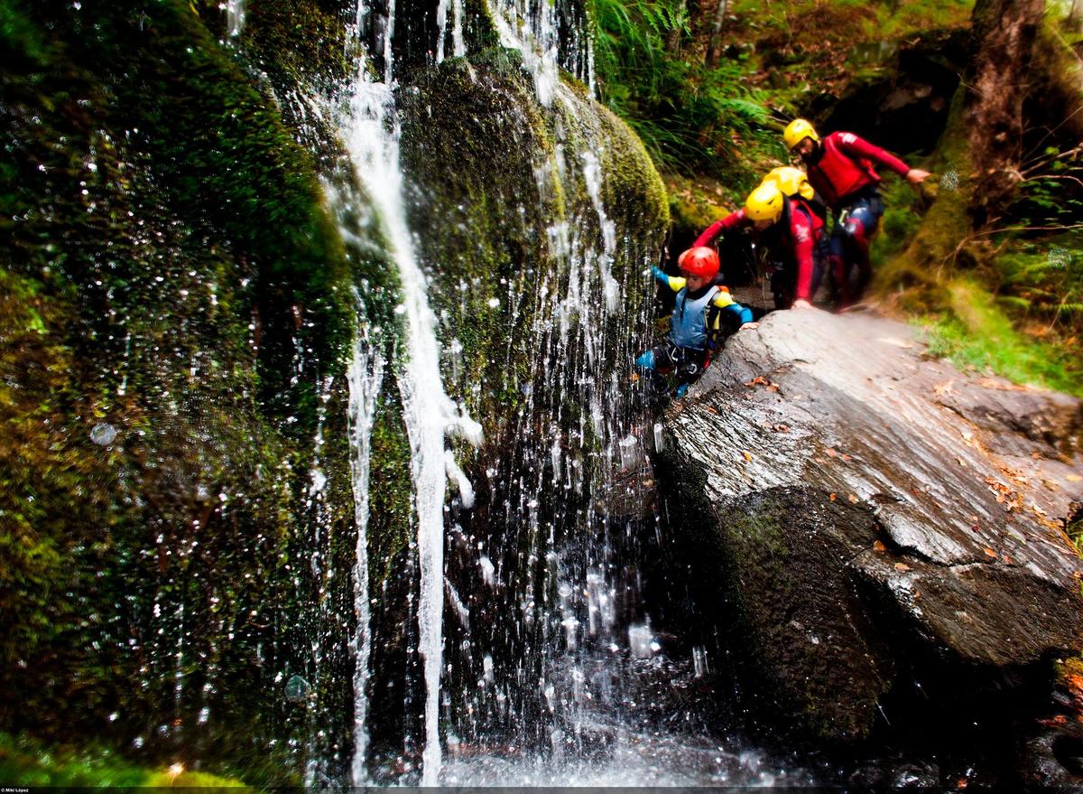
M 361 315 L 361 296 L 354 294 Z M 368 746 L 366 719 L 369 657 L 373 651 L 371 617 L 368 603 L 368 482 L 371 453 L 373 420 L 383 381 L 383 357 L 367 338 L 361 323 L 354 333 L 353 360 L 350 364 L 350 472 L 353 481 L 354 523 L 357 528 L 357 553 L 353 569 L 354 617 L 357 622 L 353 638 L 355 667 L 353 673 L 354 752 L 351 765 L 353 785 L 368 782 L 365 755 Z

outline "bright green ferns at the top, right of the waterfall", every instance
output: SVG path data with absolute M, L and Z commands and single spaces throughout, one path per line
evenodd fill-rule
M 661 167 L 722 174 L 749 140 L 775 143 L 764 129 L 764 95 L 743 82 L 743 67 L 707 68 L 691 51 L 686 3 L 591 0 L 589 8 L 602 98 Z

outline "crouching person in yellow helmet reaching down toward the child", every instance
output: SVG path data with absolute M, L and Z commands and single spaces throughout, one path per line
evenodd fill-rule
M 767 247 L 774 307 L 811 308 L 823 276 L 825 241 L 823 219 L 808 202 L 799 193 L 788 196 L 777 182 L 765 180 L 741 209 L 712 223 L 692 245 L 710 245 L 719 234 L 740 228 L 751 228 Z

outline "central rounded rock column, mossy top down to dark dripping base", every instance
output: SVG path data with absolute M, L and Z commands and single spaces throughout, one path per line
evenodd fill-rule
M 591 488 L 605 476 L 602 450 L 618 439 L 598 406 L 616 415 L 631 392 L 665 191 L 641 143 L 582 85 L 565 77 L 551 106 L 539 104 L 517 53 L 447 60 L 399 100 L 410 227 L 431 273 L 445 383 L 485 432 L 479 450 L 458 456 L 473 508 L 451 504 L 447 581 L 470 610 L 471 633 L 464 650 L 448 610 L 445 691 L 453 714 L 471 715 L 459 735 L 521 730 L 532 742 L 525 726 L 547 718 L 531 710 L 537 699 L 509 692 L 508 709 L 495 689 L 479 692 L 483 659 L 469 654 L 490 653 L 506 680 L 517 669 L 536 680 L 537 649 L 562 631 L 540 609 L 523 631 L 507 631 L 506 616 L 545 603 L 554 582 L 547 545 L 584 532 Z M 482 555 L 507 586 L 485 584 Z

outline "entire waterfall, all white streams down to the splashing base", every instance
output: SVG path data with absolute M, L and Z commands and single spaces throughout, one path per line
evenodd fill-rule
M 628 276 L 617 280 L 613 266 L 621 257 L 635 260 L 647 254 L 636 241 L 619 239 L 609 217 L 600 159 L 606 142 L 565 133 L 569 124 L 588 127 L 579 119 L 596 111 L 560 78 L 558 4 L 542 2 L 535 8 L 529 0 L 493 0 L 491 12 L 501 44 L 522 52 L 539 105 L 558 119 L 556 152 L 524 153 L 536 158 L 536 201 L 539 206 L 563 201 L 565 206 L 545 229 L 556 267 L 537 273 L 536 283 L 529 284 L 531 293 L 518 295 L 509 286 L 512 311 L 517 302 L 536 302 L 526 337 L 529 349 L 516 355 L 537 361 L 537 372 L 532 384 L 523 385 L 526 405 L 516 420 L 513 451 L 486 473 L 497 495 L 494 502 L 504 505 L 493 516 L 500 527 L 494 527 L 487 538 L 468 538 L 468 530 L 454 527 L 461 541 L 459 556 L 474 572 L 456 582 L 445 579 L 447 482 L 457 487 L 461 510 L 469 510 L 473 492 L 446 446 L 446 436 L 455 433 L 478 444 L 481 427 L 445 390 L 439 323 L 429 305 L 422 269 L 423 265 L 439 270 L 440 262 L 419 261 L 407 226 L 388 39 L 394 29 L 393 4 L 384 12 L 387 18 L 375 25 L 370 17 L 377 11 L 364 2 L 357 8 L 351 46 L 364 50 L 363 29 L 380 30 L 383 36 L 362 55 L 341 120 L 350 159 L 379 214 L 402 287 L 402 304 L 395 311 L 405 333 L 403 349 L 395 355 L 401 361 L 397 381 L 412 448 L 420 566 L 417 650 L 426 692 L 420 783 L 793 781 L 796 778 L 770 768 L 756 753 L 735 753 L 706 739 L 691 741 L 687 731 L 658 728 L 657 712 L 665 709 L 660 693 L 695 686 L 706 658 L 702 648 L 694 662 L 692 654 L 673 661 L 660 653 L 662 645 L 644 612 L 636 562 L 636 555 L 645 552 L 642 538 L 658 537 L 657 526 L 644 526 L 642 521 L 649 512 L 642 505 L 650 477 L 642 447 L 650 443 L 652 432 L 637 425 L 641 420 L 630 408 L 627 384 L 618 373 L 621 362 L 630 360 L 632 348 L 642 344 L 648 326 L 645 312 L 632 318 L 621 315 L 622 298 L 645 285 L 638 279 L 629 281 Z M 436 22 L 436 62 L 446 54 L 448 22 L 451 54 L 462 54 L 461 2 L 448 8 L 447 0 L 442 0 Z M 586 40 L 583 31 L 578 35 L 580 41 Z M 373 77 L 368 52 L 382 61 L 380 79 Z M 587 48 L 573 53 L 569 67 L 592 85 Z M 558 182 L 582 184 L 589 203 L 562 198 L 574 191 L 562 190 Z M 355 231 L 343 229 L 343 233 Z M 638 268 L 621 271 L 637 273 Z M 369 782 L 368 434 L 384 367 L 365 328 L 362 318 L 350 370 L 358 529 L 354 785 Z M 453 341 L 447 356 L 453 363 L 456 349 Z M 453 371 L 447 374 L 449 380 L 457 379 Z M 539 436 L 538 426 L 547 426 L 549 434 Z M 622 501 L 637 500 L 638 508 L 619 507 Z M 491 624 L 496 615 L 498 624 L 511 622 L 513 626 L 481 625 L 485 618 L 474 618 L 460 593 L 462 588 L 475 597 L 471 603 L 494 602 Z M 456 618 L 456 637 L 462 638 L 448 645 L 447 658 L 442 620 L 445 593 Z M 442 681 L 445 674 L 446 684 Z M 447 759 L 442 757 L 442 716 L 447 726 L 443 737 Z

